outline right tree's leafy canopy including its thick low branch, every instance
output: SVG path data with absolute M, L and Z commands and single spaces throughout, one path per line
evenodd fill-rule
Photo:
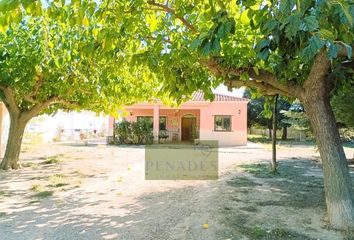
M 30 2 L 2 1 L 0 8 L 12 10 L 0 17 L 2 29 L 21 21 L 21 8 L 77 28 L 90 25 L 96 44 L 124 50 L 124 61 L 149 67 L 176 98 L 197 89 L 212 97 L 211 87 L 221 82 L 301 97 L 298 86 L 323 47 L 321 57 L 333 61 L 328 77 L 341 84 L 352 79 L 341 61 L 353 56 L 351 0 L 56 0 L 47 11 Z

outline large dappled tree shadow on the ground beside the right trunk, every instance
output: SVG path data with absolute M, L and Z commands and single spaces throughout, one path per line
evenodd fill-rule
M 326 211 L 320 164 L 308 160 L 288 160 L 280 161 L 278 174 L 272 174 L 269 169 L 267 163 L 237 167 L 245 174 L 227 181 L 227 185 L 234 189 L 233 200 L 237 204 L 222 210 L 227 227 L 221 234 L 230 239 L 242 239 L 240 235 L 266 240 L 333 239 L 326 234 L 317 235 L 311 227 L 315 220 L 308 216 L 309 211 L 313 211 L 324 217 Z M 294 223 L 297 227 L 292 226 Z M 298 228 L 299 223 L 303 228 Z M 326 229 L 324 219 L 319 224 L 323 232 L 330 231 Z M 344 238 L 352 239 L 348 235 Z

